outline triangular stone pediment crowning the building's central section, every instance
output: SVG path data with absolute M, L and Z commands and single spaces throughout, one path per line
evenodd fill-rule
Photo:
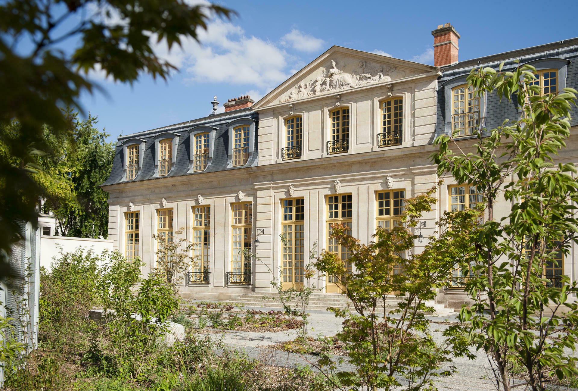
M 332 46 L 253 105 L 254 109 L 340 94 L 441 71 L 431 65 Z

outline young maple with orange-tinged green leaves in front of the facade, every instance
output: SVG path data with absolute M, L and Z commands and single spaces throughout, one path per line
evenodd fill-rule
M 413 254 L 417 235 L 412 229 L 435 205 L 436 187 L 406 200 L 401 223 L 391 230 L 378 228 L 373 235 L 375 242 L 368 245 L 346 235 L 343 226 L 334 225 L 332 237 L 351 252 L 348 263 L 352 271 L 334 253 L 324 250 L 318 258 L 317 269 L 340 276 L 343 293 L 355 309 L 329 308 L 345 319 L 338 338 L 349 345 L 349 363 L 356 367 L 355 371 L 336 372 L 347 389 L 398 389 L 403 375 L 409 379 L 404 389 L 418 390 L 433 386 L 432 377 L 453 373 L 452 357 L 472 357 L 468 340 L 454 334 L 453 329 L 446 331 L 442 344 L 436 344 L 425 313 L 434 311 L 428 304 L 436 289 L 449 285 L 456 261 L 459 266 L 468 263 L 464 254 L 470 253 L 475 241 L 480 212 L 446 212 L 438 223 L 439 234 L 430 238 L 424 252 Z M 460 224 L 462 229 L 451 230 L 450 224 Z M 387 311 L 390 300 L 398 304 Z M 336 371 L 336 363 L 328 356 L 317 365 Z M 445 370 L 442 365 L 446 365 Z

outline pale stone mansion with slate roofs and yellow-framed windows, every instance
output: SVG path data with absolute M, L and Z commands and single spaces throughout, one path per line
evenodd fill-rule
M 155 263 L 153 234 L 183 228 L 203 259 L 187 275 L 186 297 L 268 291 L 272 278 L 300 285 L 314 244 L 347 258 L 328 238 L 331 224 L 347 224 L 369 242 L 376 227 L 397 223 L 405 198 L 440 179 L 429 160 L 437 135 L 462 126 L 459 142 L 468 149 L 473 124 L 486 122 L 484 106 L 487 127 L 516 118 L 511 102 L 463 98 L 472 67 L 503 60 L 510 67 L 520 58 L 539 65 L 542 82 L 553 80 L 551 70 L 558 89 L 577 87 L 578 39 L 456 62 L 455 29 L 440 25 L 432 35 L 443 54 L 437 67 L 333 46 L 255 104 L 247 96 L 229 99 L 224 113 L 119 138 L 102 185 L 110 193 L 115 248 L 142 257 L 147 273 Z M 463 102 L 461 116 L 452 102 Z M 572 139 L 560 158 L 577 161 L 577 145 Z M 468 206 L 452 194 L 469 196 L 469 187 L 445 179 L 438 205 L 424 216 L 424 237 L 444 211 Z M 506 213 L 509 206 L 499 208 Z M 416 243 L 416 251 L 426 244 Z M 243 259 L 244 249 L 255 257 Z M 575 279 L 573 259 L 562 260 L 562 272 Z M 331 278 L 316 285 L 339 293 Z M 459 307 L 462 290 L 450 291 L 438 300 Z

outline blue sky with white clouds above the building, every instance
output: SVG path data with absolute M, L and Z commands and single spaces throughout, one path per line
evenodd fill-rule
M 214 20 L 202 45 L 158 53 L 179 67 L 166 83 L 133 86 L 94 73 L 107 95 L 84 95 L 84 109 L 116 139 L 206 116 L 213 95 L 261 98 L 332 45 L 433 65 L 431 31 L 451 23 L 460 60 L 578 36 L 578 2 L 221 1 L 239 13 Z M 381 53 L 381 54 L 383 54 Z

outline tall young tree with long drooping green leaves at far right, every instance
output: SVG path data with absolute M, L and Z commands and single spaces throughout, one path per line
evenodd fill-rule
M 477 186 L 486 202 L 465 287 L 474 304 L 462 308 L 460 320 L 471 326 L 477 348 L 486 351 L 498 388 L 512 389 L 508 368 L 514 361 L 526 368 L 532 390 L 544 390 L 549 375 L 578 373 L 576 359 L 564 353 L 575 349 L 578 337 L 577 304 L 570 298 L 578 288 L 559 275 L 562 254 L 578 242 L 578 183 L 572 163 L 554 163 L 570 135 L 576 91 L 541 96 L 533 67 L 502 72 L 502 66 L 498 72 L 474 69 L 468 83 L 480 98 L 494 91 L 500 99 L 514 97 L 520 118 L 505 121 L 489 137 L 480 129 L 473 153 L 442 135 L 432 158 L 439 175 L 451 172 L 458 183 Z M 495 213 L 501 197 L 512 205 L 505 216 Z

